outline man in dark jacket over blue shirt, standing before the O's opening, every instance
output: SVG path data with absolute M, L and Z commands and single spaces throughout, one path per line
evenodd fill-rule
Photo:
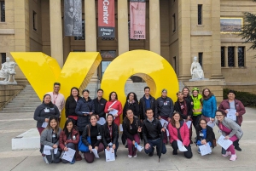
M 157 105 L 156 105 L 156 101 L 155 101 L 154 97 L 150 95 L 149 87 L 144 88 L 144 95 L 140 99 L 140 102 L 139 102 L 141 122 L 143 122 L 143 120 L 147 118 L 147 116 L 145 114 L 146 109 L 152 109 L 152 111 L 154 113 L 153 117 L 156 118 L 155 115 L 157 114 Z

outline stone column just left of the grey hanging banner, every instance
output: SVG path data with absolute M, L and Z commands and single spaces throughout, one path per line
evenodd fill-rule
M 50 55 L 63 66 L 61 0 L 49 1 Z

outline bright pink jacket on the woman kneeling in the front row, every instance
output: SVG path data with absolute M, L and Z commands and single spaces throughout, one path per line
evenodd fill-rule
M 172 127 L 171 123 L 168 124 L 168 131 L 169 131 L 169 134 L 170 134 L 170 142 L 171 143 L 173 142 L 173 140 L 178 140 L 178 138 L 177 138 L 177 128 Z M 188 146 L 190 144 L 189 128 L 188 128 L 187 124 L 184 123 L 183 121 L 180 122 L 179 132 L 180 132 L 181 139 L 183 141 L 183 145 Z

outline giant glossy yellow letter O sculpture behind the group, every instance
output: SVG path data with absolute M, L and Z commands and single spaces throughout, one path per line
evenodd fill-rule
M 166 59 L 147 50 L 126 52 L 110 63 L 102 77 L 101 87 L 104 90 L 104 98 L 108 100 L 108 95 L 115 91 L 124 106 L 125 83 L 132 75 L 143 78 L 154 98 L 160 97 L 161 90 L 166 88 L 168 96 L 173 101 L 177 100 L 178 82 L 175 71 Z

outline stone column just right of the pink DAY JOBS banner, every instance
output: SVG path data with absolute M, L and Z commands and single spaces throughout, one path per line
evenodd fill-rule
M 160 54 L 160 0 L 149 1 L 149 48 Z

